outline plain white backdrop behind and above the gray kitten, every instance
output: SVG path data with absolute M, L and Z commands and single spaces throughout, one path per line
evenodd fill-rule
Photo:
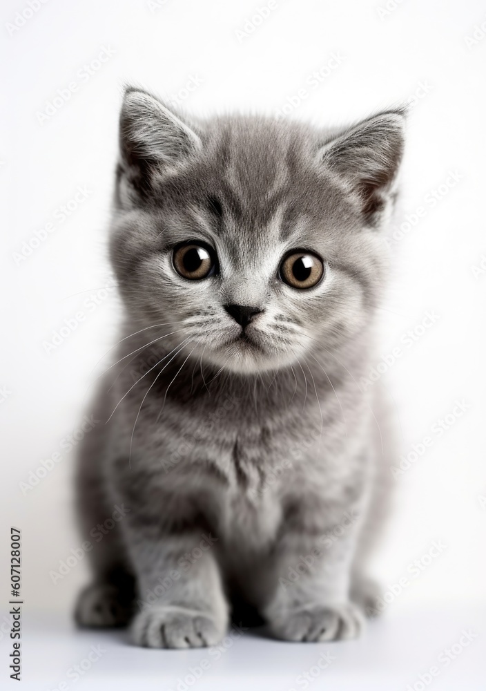
M 103 289 L 111 280 L 106 234 L 127 82 L 176 95 L 188 112 L 203 116 L 276 113 L 289 98 L 295 104 L 304 88 L 307 97 L 286 108 L 289 117 L 323 126 L 413 103 L 396 225 L 418 207 L 425 211 L 393 243 L 380 355 L 397 347 L 402 355 L 381 379 L 397 410 L 402 453 L 427 435 L 432 444 L 396 481 L 395 518 L 376 569 L 386 588 L 402 576 L 409 580 L 389 605 L 389 618 L 410 607 L 454 605 L 460 612 L 485 603 L 486 258 L 482 273 L 474 267 L 486 257 L 486 23 L 483 39 L 476 29 L 476 39 L 467 40 L 486 22 L 484 3 L 277 0 L 249 32 L 247 20 L 265 6 L 264 0 L 166 0 L 158 8 L 142 0 L 50 0 L 12 29 L 28 6 L 2 4 L 0 386 L 7 395 L 0 396 L 0 545 L 6 553 L 10 524 L 21 527 L 23 596 L 32 612 L 67 616 L 86 580 L 86 560 L 57 585 L 50 571 L 80 543 L 72 518 L 75 453 L 63 450 L 63 439 L 79 425 L 95 375 L 110 362 L 98 363 L 115 342 L 119 318 L 115 290 Z M 113 55 L 94 63 L 86 79 L 83 66 L 103 48 Z M 329 70 L 333 55 L 340 64 Z M 308 79 L 322 68 L 314 87 Z M 194 79 L 195 91 L 184 91 Z M 72 82 L 77 90 L 69 100 L 50 117 L 39 116 Z M 78 187 L 88 190 L 86 198 L 59 222 L 59 207 Z M 443 196 L 433 206 L 434 189 Z M 46 223 L 52 233 L 19 259 L 24 241 L 31 243 Z M 100 303 L 94 310 L 92 296 Z M 438 319 L 422 330 L 431 311 Z M 78 312 L 84 320 L 46 352 L 53 332 Z M 409 330 L 418 335 L 411 347 L 402 340 Z M 466 412 L 442 435 L 431 432 L 456 400 L 465 401 Z M 22 491 L 21 483 L 56 451 L 61 460 Z M 429 564 L 434 541 L 445 547 Z M 416 559 L 424 568 L 414 578 L 408 569 Z M 1 569 L 3 594 L 7 581 Z

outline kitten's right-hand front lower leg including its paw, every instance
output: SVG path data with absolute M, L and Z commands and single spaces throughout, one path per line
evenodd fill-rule
M 306 510 L 301 506 L 282 529 L 264 616 L 273 634 L 286 641 L 355 638 L 363 618 L 349 587 L 359 520 L 348 510 L 341 520 L 318 526 Z

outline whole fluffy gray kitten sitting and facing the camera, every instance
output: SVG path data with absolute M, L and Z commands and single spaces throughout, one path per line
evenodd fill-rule
M 95 402 L 109 423 L 79 455 L 84 532 L 104 526 L 81 625 L 213 645 L 232 605 L 289 641 L 358 635 L 390 454 L 358 381 L 403 132 L 400 109 L 320 130 L 188 120 L 127 89 L 110 233 L 125 319 Z

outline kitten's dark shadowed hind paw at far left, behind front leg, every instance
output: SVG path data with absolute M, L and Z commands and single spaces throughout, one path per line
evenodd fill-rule
M 79 626 L 126 626 L 131 611 L 131 602 L 118 588 L 109 583 L 92 583 L 79 594 L 75 620 Z

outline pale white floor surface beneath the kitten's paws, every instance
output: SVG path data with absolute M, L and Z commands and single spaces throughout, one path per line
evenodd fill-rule
M 469 636 L 464 637 L 464 631 Z M 233 643 L 227 639 L 218 655 L 204 648 L 136 648 L 129 644 L 125 632 L 77 632 L 67 621 L 37 618 L 24 625 L 20 688 L 57 691 L 64 682 L 67 687 L 63 691 L 409 691 L 409 685 L 423 691 L 420 675 L 430 674 L 435 666 L 438 672 L 432 678 L 432 688 L 483 691 L 485 635 L 484 608 L 425 609 L 372 621 L 359 641 L 281 643 L 263 638 L 257 631 L 234 638 Z M 93 646 L 100 656 L 89 668 L 83 661 Z M 454 659 L 446 650 L 451 650 Z M 330 663 L 319 670 L 323 654 Z M 447 658 L 449 663 L 444 661 Z M 197 680 L 187 677 L 191 668 L 200 668 L 202 660 L 209 662 L 209 668 Z M 86 668 L 78 679 L 75 665 Z M 311 674 L 307 686 L 302 681 L 305 672 Z M 186 689 L 178 686 L 181 679 Z

